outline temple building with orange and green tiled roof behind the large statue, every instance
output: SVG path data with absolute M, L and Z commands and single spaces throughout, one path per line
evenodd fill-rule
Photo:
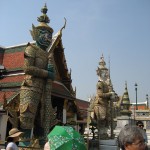
M 56 70 L 49 95 L 52 108 L 56 112 L 50 115 L 55 115 L 61 124 L 73 124 L 79 130 L 83 130 L 88 102 L 77 99 L 76 89 L 72 87 L 71 70 L 68 70 L 67 67 L 62 42 L 64 28 L 65 25 L 52 37 L 49 48 L 53 51 L 52 60 Z M 35 45 L 35 42 L 30 43 Z M 10 47 L 0 46 L 0 134 L 3 141 L 8 136 L 8 131 L 16 127 L 17 122 L 13 118 L 18 117 L 16 115 L 20 103 L 20 88 L 25 78 L 23 66 L 27 45 L 28 43 Z M 55 125 L 55 122 L 51 121 L 51 125 Z

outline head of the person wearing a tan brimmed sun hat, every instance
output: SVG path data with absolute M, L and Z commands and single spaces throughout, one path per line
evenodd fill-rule
M 20 132 L 17 128 L 12 128 L 9 131 L 9 136 L 7 137 L 7 142 L 18 142 L 20 136 L 22 136 L 23 132 Z

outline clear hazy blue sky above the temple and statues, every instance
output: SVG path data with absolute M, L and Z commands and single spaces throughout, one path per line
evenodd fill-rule
M 47 4 L 54 34 L 64 25 L 62 43 L 76 96 L 88 100 L 96 94 L 96 69 L 104 56 L 115 92 L 122 96 L 125 82 L 131 102 L 150 96 L 150 0 L 0 0 L 0 45 L 32 41 Z M 53 35 L 54 35 L 53 34 Z M 150 98 L 149 98 L 150 99 Z

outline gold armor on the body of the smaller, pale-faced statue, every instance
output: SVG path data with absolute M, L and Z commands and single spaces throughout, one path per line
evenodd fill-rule
M 94 102 L 94 114 L 96 120 L 107 120 L 109 117 L 109 100 L 111 93 L 108 85 L 103 81 L 97 83 L 97 94 Z

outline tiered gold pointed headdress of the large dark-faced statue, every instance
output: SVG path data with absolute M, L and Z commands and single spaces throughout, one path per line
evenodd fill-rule
M 33 24 L 32 24 L 32 31 L 30 30 L 30 33 L 33 37 L 33 40 L 36 40 L 38 35 L 39 35 L 39 29 L 46 29 L 48 30 L 51 34 L 53 34 L 53 29 L 47 25 L 47 23 L 50 22 L 48 16 L 46 15 L 47 13 L 47 6 L 45 4 L 45 6 L 41 9 L 41 12 L 43 13 L 40 17 L 37 18 L 37 21 L 40 22 L 40 24 L 35 27 Z

